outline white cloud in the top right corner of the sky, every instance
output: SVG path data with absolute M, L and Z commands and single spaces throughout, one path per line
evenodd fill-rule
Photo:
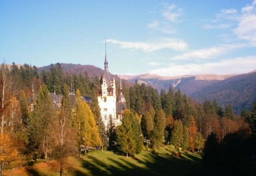
M 256 1 L 242 8 L 242 17 L 234 33 L 241 39 L 256 42 Z

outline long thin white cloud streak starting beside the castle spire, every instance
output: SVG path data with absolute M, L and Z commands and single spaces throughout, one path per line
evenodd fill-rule
M 149 42 L 129 42 L 129 41 L 119 41 L 115 39 L 106 40 L 108 43 L 117 44 L 123 49 L 140 49 L 146 53 L 152 51 L 162 50 L 162 49 L 172 49 L 172 50 L 185 50 L 187 48 L 187 43 L 183 40 L 178 40 L 175 38 L 163 38 L 158 41 Z

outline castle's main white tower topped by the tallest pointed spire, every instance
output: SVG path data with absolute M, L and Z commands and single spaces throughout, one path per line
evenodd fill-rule
M 112 117 L 115 125 L 121 123 L 120 118 L 116 115 L 116 102 L 117 97 L 115 95 L 115 79 L 110 79 L 109 77 L 109 63 L 106 55 L 106 46 L 105 46 L 105 71 L 101 75 L 100 79 L 100 88 L 97 89 L 98 96 L 98 105 L 101 109 L 101 118 L 104 122 L 105 127 L 109 124 L 109 119 Z

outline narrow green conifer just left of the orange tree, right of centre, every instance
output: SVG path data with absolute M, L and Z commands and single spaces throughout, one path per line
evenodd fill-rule
M 183 139 L 183 125 L 180 120 L 174 121 L 174 130 L 172 130 L 171 144 L 176 148 L 181 147 L 181 141 Z

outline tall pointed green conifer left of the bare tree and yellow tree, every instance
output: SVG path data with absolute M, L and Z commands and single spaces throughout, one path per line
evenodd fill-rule
M 52 125 L 55 121 L 56 110 L 46 85 L 42 85 L 39 89 L 34 111 L 32 111 L 28 121 L 28 139 L 30 149 L 32 151 L 41 149 L 46 159 L 49 151 L 49 138 L 53 130 Z

